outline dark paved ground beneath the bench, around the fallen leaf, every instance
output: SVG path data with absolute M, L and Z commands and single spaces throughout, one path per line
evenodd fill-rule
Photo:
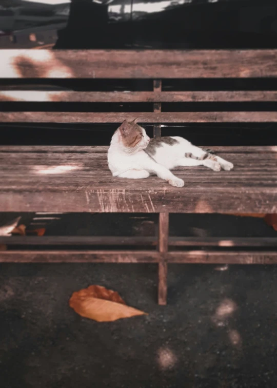
M 274 234 L 262 220 L 222 217 L 175 216 L 172 232 Z M 75 220 L 76 228 L 100 224 Z M 155 265 L 1 264 L 1 387 L 275 388 L 276 280 L 275 266 L 170 265 L 162 307 Z M 68 300 L 90 284 L 117 290 L 149 315 L 81 318 Z

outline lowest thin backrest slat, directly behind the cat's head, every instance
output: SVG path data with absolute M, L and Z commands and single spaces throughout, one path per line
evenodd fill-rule
M 277 112 L 0 112 L 3 123 L 269 123 Z

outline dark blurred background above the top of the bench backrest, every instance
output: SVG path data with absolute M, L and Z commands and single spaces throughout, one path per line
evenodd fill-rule
M 274 48 L 272 0 L 2 0 L 0 48 Z

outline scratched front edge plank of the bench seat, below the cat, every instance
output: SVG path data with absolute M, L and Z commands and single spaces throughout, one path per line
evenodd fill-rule
M 14 187 L 0 191 L 0 211 L 58 212 L 184 212 L 184 213 L 275 213 L 277 187 L 233 189 L 210 185 L 206 189 L 193 187 L 171 189 L 83 189 L 36 191 Z

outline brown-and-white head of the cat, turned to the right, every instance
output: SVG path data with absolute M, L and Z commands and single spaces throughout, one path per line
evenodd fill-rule
M 118 134 L 120 135 L 120 142 L 123 148 L 127 152 L 137 152 L 145 149 L 150 138 L 147 136 L 145 129 L 136 124 L 136 120 L 131 123 L 127 123 L 126 120 L 118 128 Z

